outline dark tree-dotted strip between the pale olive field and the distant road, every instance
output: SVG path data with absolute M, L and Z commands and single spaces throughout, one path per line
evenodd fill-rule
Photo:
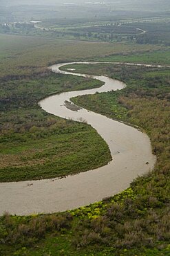
M 85 24 L 38 24 L 29 22 L 10 22 L 0 24 L 0 33 L 6 35 L 26 35 L 46 38 L 84 40 L 94 42 L 128 43 L 128 44 L 155 44 L 169 46 L 169 19 L 154 19 L 131 21 L 107 21 L 101 24 L 96 22 Z

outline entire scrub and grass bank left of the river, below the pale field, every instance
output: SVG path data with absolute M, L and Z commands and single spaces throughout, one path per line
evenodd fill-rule
M 37 104 L 50 93 L 101 85 L 98 80 L 50 71 L 32 78 L 2 79 L 0 181 L 52 178 L 108 163 L 109 149 L 92 127 L 53 117 Z

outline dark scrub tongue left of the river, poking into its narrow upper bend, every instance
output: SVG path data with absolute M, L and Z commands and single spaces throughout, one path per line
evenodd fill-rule
M 27 67 L 25 67 L 27 68 Z M 24 67 L 21 67 L 24 69 Z M 1 78 L 1 111 L 37 107 L 37 102 L 46 95 L 95 88 L 102 82 L 73 75 L 54 74 L 45 70 L 36 75 L 24 75 Z

